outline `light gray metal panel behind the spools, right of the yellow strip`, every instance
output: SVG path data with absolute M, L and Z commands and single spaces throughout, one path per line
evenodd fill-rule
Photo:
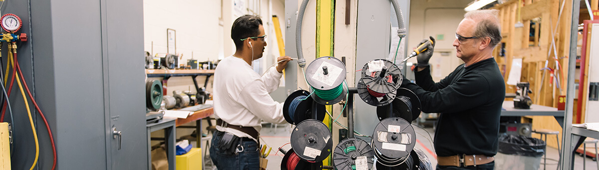
M 398 1 L 406 23 L 406 29 L 409 27 L 410 2 L 407 0 Z M 385 59 L 389 55 L 389 45 L 391 36 L 397 36 L 397 32 L 391 32 L 392 20 L 395 20 L 395 11 L 392 10 L 391 1 L 358 1 L 358 31 L 356 38 L 356 69 L 361 69 L 364 65 L 374 59 Z M 407 40 L 407 37 L 404 38 Z M 407 48 L 406 48 L 407 49 Z M 403 59 L 404 54 L 397 54 L 398 59 Z M 402 65 L 405 72 L 405 65 Z M 356 74 L 356 81 L 361 78 L 361 74 Z M 355 84 L 353 85 L 355 86 Z M 372 135 L 374 125 L 379 123 L 376 116 L 376 107 L 366 104 L 364 101 L 355 97 L 355 123 L 354 129 L 357 132 L 366 135 Z

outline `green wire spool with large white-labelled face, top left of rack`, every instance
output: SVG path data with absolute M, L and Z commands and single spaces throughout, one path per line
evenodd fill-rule
M 335 57 L 319 57 L 305 69 L 305 78 L 310 85 L 311 97 L 323 105 L 340 102 L 347 95 L 347 84 L 343 86 L 346 69 Z

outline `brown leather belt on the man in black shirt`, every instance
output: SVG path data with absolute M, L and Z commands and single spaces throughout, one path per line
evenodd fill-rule
M 493 157 L 485 156 L 484 154 L 474 154 L 462 156 L 438 156 L 437 164 L 441 166 L 476 166 L 491 163 L 495 160 Z

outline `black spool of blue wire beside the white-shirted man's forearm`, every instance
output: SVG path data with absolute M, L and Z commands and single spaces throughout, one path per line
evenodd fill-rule
M 296 125 L 297 123 L 308 119 L 316 119 L 321 122 L 325 119 L 325 105 L 321 104 L 317 104 L 317 115 L 316 117 L 312 117 L 312 106 L 314 104 L 314 99 L 307 98 L 308 95 L 310 95 L 310 93 L 308 93 L 306 90 L 296 90 L 295 92 L 291 93 L 287 99 L 285 99 L 285 103 L 283 103 L 283 117 L 285 117 L 285 120 L 288 123 Z M 305 96 L 306 98 L 305 100 L 300 101 L 298 104 L 296 98 L 299 96 Z M 289 110 L 290 107 L 295 107 L 295 110 Z

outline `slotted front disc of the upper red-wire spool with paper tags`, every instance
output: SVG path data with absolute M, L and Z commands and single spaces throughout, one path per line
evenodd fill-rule
M 370 70 L 368 63 L 380 63 L 382 62 L 382 69 L 380 71 Z M 364 65 L 362 68 L 362 78 L 364 84 L 372 95 L 377 96 L 379 94 L 391 93 L 397 90 L 401 86 L 403 76 L 401 75 L 400 68 L 393 62 L 385 59 L 371 60 Z M 374 92 L 374 93 L 373 93 Z

